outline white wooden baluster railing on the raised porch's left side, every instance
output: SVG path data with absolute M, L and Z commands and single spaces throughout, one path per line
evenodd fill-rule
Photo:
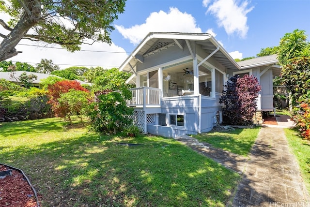
M 161 91 L 160 89 L 150 87 L 140 87 L 129 89 L 132 93 L 132 99 L 127 100 L 128 106 L 159 106 Z

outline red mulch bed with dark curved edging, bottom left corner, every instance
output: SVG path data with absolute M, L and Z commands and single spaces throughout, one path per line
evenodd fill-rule
M 0 165 L 0 171 L 10 170 Z M 37 207 L 34 192 L 23 174 L 17 170 L 12 176 L 0 179 L 0 207 Z

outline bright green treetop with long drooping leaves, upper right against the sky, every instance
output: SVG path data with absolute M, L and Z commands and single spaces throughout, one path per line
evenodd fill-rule
M 310 48 L 307 42 L 305 30 L 294 30 L 292 33 L 286 33 L 280 40 L 278 60 L 281 65 L 289 63 L 290 59 L 302 56 L 302 53 Z

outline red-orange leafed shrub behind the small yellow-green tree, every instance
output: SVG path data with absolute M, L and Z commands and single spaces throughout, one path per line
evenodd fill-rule
M 61 94 L 67 93 L 72 89 L 88 92 L 88 90 L 83 88 L 78 83 L 78 81 L 74 80 L 62 80 L 48 86 L 47 88 L 47 96 L 49 98 L 49 101 L 47 103 L 51 105 L 51 109 L 54 112 L 55 116 L 68 118 L 70 123 L 72 123 L 70 116 L 67 116 L 70 111 L 65 105 L 60 104 L 58 99 L 61 97 Z

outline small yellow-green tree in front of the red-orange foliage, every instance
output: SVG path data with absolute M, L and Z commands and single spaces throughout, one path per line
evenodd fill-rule
M 82 90 L 70 89 L 67 93 L 60 94 L 58 102 L 60 107 L 65 108 L 66 117 L 72 125 L 71 115 L 76 115 L 81 119 L 82 125 L 84 127 L 83 115 L 87 113 L 87 107 L 90 103 L 89 92 Z

